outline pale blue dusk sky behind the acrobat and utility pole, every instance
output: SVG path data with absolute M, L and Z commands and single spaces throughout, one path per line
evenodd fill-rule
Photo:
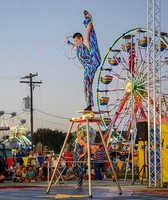
M 161 0 L 163 32 L 168 32 L 167 8 L 168 1 Z M 33 81 L 42 81 L 33 90 L 34 130 L 67 131 L 69 119 L 86 107 L 83 70 L 77 60 L 74 64 L 65 56 L 70 52 L 63 42 L 75 32 L 85 33 L 83 10 L 93 16 L 102 59 L 123 33 L 147 27 L 147 0 L 0 0 L 0 111 L 5 112 L 1 126 L 17 112 L 12 125 L 26 119 L 30 128 L 30 112 L 23 103 L 30 87 L 20 83 L 30 73 L 38 73 Z M 95 100 L 94 110 L 96 106 Z

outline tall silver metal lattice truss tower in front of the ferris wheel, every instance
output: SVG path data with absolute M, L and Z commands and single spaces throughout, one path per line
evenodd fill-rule
M 147 0 L 149 187 L 162 187 L 160 0 Z M 151 101 L 151 98 L 153 101 Z

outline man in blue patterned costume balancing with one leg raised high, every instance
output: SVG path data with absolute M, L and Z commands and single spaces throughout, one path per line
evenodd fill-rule
M 96 33 L 92 23 L 92 16 L 84 11 L 86 27 L 85 38 L 81 33 L 75 33 L 73 39 L 75 44 L 67 39 L 67 43 L 76 49 L 77 57 L 84 68 L 84 93 L 87 108 L 84 110 L 92 110 L 94 106 L 92 84 L 97 68 L 101 64 L 101 56 L 98 48 Z

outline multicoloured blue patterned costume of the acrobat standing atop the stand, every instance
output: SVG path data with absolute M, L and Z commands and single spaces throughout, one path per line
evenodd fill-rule
M 85 27 L 87 27 L 89 22 L 91 22 L 91 18 L 87 17 L 84 21 Z M 101 64 L 101 56 L 94 28 L 92 28 L 89 35 L 89 45 L 90 45 L 90 50 L 83 43 L 80 46 L 77 46 L 76 53 L 80 63 L 83 65 L 84 68 L 83 82 L 84 82 L 85 100 L 87 102 L 87 106 L 93 106 L 94 102 L 93 102 L 92 84 L 95 72 L 97 71 L 97 68 Z

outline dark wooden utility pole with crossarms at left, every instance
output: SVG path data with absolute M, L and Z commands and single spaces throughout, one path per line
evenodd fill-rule
M 29 79 L 29 81 L 20 81 L 20 83 L 28 83 L 30 86 L 30 125 L 31 125 L 31 143 L 33 150 L 33 89 L 38 84 L 41 84 L 42 81 L 33 81 L 33 77 L 38 76 L 38 73 L 32 74 L 30 73 L 28 76 L 24 76 L 21 79 Z

